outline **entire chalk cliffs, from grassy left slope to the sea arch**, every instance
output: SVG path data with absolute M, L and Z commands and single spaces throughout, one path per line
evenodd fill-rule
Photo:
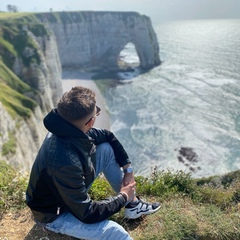
M 61 69 L 116 70 L 128 43 L 141 68 L 160 64 L 151 21 L 138 13 L 0 18 L 0 160 L 29 171 L 47 133 L 42 119 L 62 95 Z

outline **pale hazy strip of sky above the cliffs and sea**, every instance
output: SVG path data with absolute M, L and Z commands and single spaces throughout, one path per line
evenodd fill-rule
M 0 10 L 8 4 L 19 11 L 48 12 L 110 10 L 137 11 L 154 22 L 194 18 L 239 18 L 240 0 L 0 0 Z

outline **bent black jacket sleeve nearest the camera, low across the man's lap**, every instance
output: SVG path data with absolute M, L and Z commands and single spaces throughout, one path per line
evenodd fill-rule
M 87 194 L 84 177 L 78 166 L 64 166 L 52 177 L 61 202 L 84 223 L 103 221 L 119 212 L 125 205 L 125 199 L 121 194 L 102 201 L 92 201 Z

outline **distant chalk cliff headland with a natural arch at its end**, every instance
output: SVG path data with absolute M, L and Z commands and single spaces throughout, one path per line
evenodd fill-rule
M 149 17 L 136 12 L 71 12 L 67 19 L 65 15 L 59 13 L 58 22 L 49 15 L 40 17 L 56 36 L 63 68 L 117 69 L 120 52 L 128 43 L 135 46 L 142 69 L 160 64 Z

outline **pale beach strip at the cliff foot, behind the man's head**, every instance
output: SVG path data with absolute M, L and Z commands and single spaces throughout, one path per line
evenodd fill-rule
M 110 116 L 106 109 L 105 100 L 95 82 L 91 80 L 92 75 L 92 73 L 82 73 L 79 71 L 63 71 L 63 93 L 75 86 L 83 86 L 93 90 L 96 94 L 97 105 L 101 108 L 101 114 L 96 118 L 94 127 L 110 130 Z

